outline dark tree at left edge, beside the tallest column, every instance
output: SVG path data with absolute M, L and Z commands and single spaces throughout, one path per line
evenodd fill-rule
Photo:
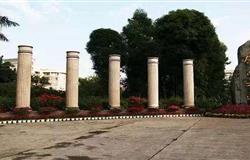
M 16 80 L 16 71 L 11 69 L 12 64 L 3 62 L 3 56 L 0 57 L 0 83 L 8 83 Z

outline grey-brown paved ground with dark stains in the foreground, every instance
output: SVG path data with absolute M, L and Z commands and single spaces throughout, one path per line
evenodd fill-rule
M 2 125 L 0 159 L 249 160 L 250 119 L 190 117 Z

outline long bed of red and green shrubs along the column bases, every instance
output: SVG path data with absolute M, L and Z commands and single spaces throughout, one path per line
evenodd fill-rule
M 80 99 L 82 100 L 82 99 Z M 89 101 L 88 101 L 89 100 Z M 124 99 L 123 99 L 124 100 Z M 65 109 L 65 99 L 53 94 L 42 94 L 33 98 L 32 111 L 19 114 L 12 110 L 0 113 L 0 120 L 10 119 L 46 119 L 46 118 L 72 118 L 72 117 L 108 117 L 108 116 L 135 116 L 135 115 L 167 115 L 167 114 L 192 114 L 197 109 L 185 110 L 178 105 L 170 105 L 164 108 L 147 108 L 147 100 L 141 97 L 129 97 L 126 106 L 111 108 L 107 99 L 90 97 L 86 103 L 79 103 L 80 110 Z M 124 103 L 124 104 L 126 104 Z M 78 108 L 77 108 L 78 109 Z

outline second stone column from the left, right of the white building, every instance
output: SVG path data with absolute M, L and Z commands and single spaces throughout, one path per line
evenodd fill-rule
M 67 51 L 66 109 L 78 110 L 79 53 Z

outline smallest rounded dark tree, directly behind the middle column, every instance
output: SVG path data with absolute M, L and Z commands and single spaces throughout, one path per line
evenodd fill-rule
M 124 65 L 125 45 L 121 35 L 111 29 L 94 30 L 87 43 L 87 51 L 94 64 L 93 69 L 103 85 L 103 94 L 108 94 L 108 59 L 110 54 L 121 55 L 121 66 Z

